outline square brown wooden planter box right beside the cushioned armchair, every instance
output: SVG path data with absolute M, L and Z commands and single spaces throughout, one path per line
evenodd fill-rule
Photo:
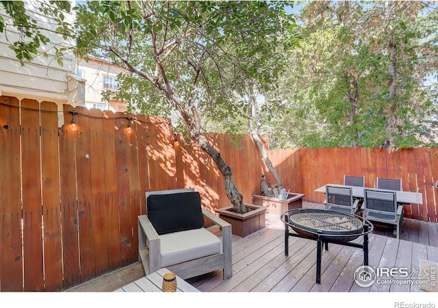
M 216 209 L 219 218 L 231 224 L 231 233 L 244 238 L 255 231 L 265 227 L 265 212 L 266 208 L 258 205 L 245 204 L 247 209 L 251 209 L 245 214 L 238 214 L 234 211 L 229 211 L 233 207 L 222 207 Z

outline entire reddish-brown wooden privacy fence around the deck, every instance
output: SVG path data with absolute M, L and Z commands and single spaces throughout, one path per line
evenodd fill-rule
M 59 291 L 138 261 L 137 216 L 144 192 L 194 187 L 203 206 L 229 205 L 222 175 L 167 119 L 0 97 L 0 291 Z M 128 117 L 131 121 L 129 133 Z M 244 202 L 272 176 L 250 136 L 209 134 L 233 170 Z M 265 142 L 267 140 L 265 139 Z M 313 190 L 344 174 L 401 177 L 424 205 L 407 216 L 437 221 L 437 149 L 288 149 L 270 151 L 285 188 L 322 202 Z

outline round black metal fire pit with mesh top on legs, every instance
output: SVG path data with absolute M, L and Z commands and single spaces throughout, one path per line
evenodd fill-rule
M 329 243 L 363 248 L 364 265 L 368 265 L 368 234 L 374 226 L 354 214 L 329 209 L 292 209 L 281 215 L 285 223 L 285 255 L 289 255 L 289 236 L 317 241 L 316 283 L 321 282 L 322 244 Z M 296 233 L 289 232 L 291 227 Z M 363 235 L 363 244 L 351 242 Z

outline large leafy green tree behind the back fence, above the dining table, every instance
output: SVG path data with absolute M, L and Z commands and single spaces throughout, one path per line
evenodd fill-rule
M 294 73 L 276 96 L 292 109 L 283 126 L 301 129 L 297 136 L 292 127 L 295 145 L 421 144 L 436 10 L 420 1 L 312 1 L 301 13 L 302 45 L 289 53 Z

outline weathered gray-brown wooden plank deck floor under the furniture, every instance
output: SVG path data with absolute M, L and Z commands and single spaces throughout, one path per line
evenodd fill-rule
M 321 206 L 303 203 L 303 207 Z M 370 266 L 420 270 L 420 259 L 438 262 L 437 241 L 438 224 L 434 223 L 405 219 L 400 240 L 391 234 L 391 229 L 376 226 L 370 235 Z M 374 283 L 371 287 L 359 287 L 353 273 L 363 264 L 363 251 L 337 244 L 323 251 L 318 285 L 315 243 L 289 238 L 289 256 L 285 256 L 284 224 L 279 216 L 266 215 L 266 228 L 246 238 L 233 235 L 231 279 L 222 279 L 222 272 L 217 271 L 187 281 L 201 292 L 423 292 L 418 285 L 407 284 Z M 68 291 L 111 292 L 142 276 L 141 264 L 133 264 Z

